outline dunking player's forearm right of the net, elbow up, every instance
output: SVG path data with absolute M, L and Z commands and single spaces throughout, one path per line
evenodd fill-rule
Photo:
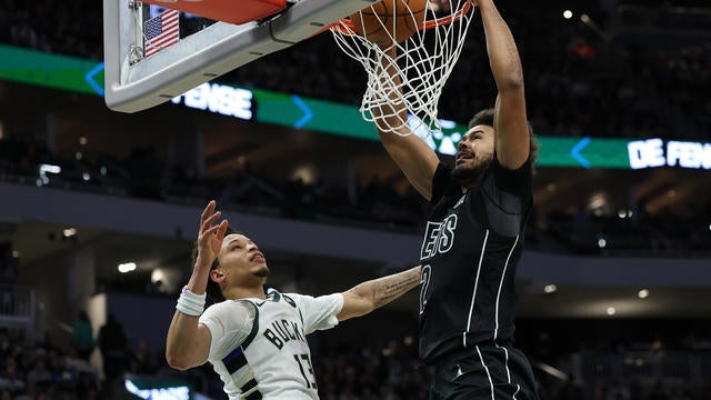
M 487 52 L 499 91 L 523 84 L 521 59 L 509 26 L 492 0 L 478 0 L 487 37 Z

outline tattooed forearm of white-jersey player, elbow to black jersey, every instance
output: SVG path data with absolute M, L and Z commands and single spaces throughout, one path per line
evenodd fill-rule
M 403 272 L 360 283 L 351 289 L 350 292 L 372 303 L 373 309 L 377 309 L 407 293 L 418 284 L 420 284 L 419 266 Z

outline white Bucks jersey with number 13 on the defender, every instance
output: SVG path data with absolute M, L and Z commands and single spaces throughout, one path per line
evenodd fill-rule
M 318 399 L 306 336 L 338 324 L 343 296 L 282 294 L 226 300 L 200 317 L 212 336 L 208 361 L 236 399 Z

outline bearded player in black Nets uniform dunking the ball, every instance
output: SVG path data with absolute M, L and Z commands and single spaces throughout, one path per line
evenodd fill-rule
M 414 134 L 380 138 L 434 206 L 420 252 L 420 356 L 432 368 L 430 399 L 538 399 L 531 366 L 512 346 L 514 274 L 532 206 L 537 144 L 511 31 L 492 0 L 474 2 L 498 97 L 493 109 L 469 123 L 454 167 L 441 163 Z M 384 117 L 393 107 L 375 110 L 375 119 L 400 126 L 407 118 L 402 107 Z

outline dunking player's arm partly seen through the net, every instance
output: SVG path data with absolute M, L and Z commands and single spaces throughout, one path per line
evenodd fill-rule
M 390 48 L 385 53 L 388 57 L 381 59 L 380 71 L 382 71 L 383 79 L 393 80 L 393 84 L 387 87 L 400 88 L 400 76 L 397 68 L 391 63 L 397 58 L 395 47 Z M 397 100 L 398 97 L 399 93 L 391 92 L 389 101 L 381 101 L 380 107 L 373 108 L 372 112 L 377 121 L 378 134 L 385 150 L 400 167 L 410 184 L 429 201 L 432 198 L 432 178 L 434 177 L 439 158 L 424 140 L 412 134 L 407 128 L 408 110 L 404 103 Z M 381 120 L 381 116 L 389 117 Z M 385 123 L 389 127 L 404 127 L 397 132 L 389 132 L 382 129 L 381 123 Z

